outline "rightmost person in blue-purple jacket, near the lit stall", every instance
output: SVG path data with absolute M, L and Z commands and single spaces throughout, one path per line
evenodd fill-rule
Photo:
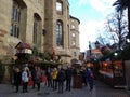
M 87 70 L 87 77 L 88 77 L 88 83 L 89 83 L 89 86 L 90 86 L 90 91 L 92 91 L 93 89 L 94 75 L 93 75 L 93 72 L 90 68 L 88 68 L 88 70 Z

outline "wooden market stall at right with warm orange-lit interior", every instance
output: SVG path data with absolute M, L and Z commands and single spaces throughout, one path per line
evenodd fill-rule
M 100 79 L 115 88 L 125 87 L 123 65 L 121 60 L 101 61 Z

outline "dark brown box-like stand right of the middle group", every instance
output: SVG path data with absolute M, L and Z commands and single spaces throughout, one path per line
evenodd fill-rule
M 73 87 L 74 88 L 82 88 L 82 78 L 80 74 L 76 74 L 73 78 Z

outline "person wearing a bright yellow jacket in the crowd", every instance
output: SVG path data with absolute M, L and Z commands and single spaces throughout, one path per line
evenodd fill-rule
M 54 68 L 52 73 L 52 85 L 53 85 L 53 91 L 57 89 L 57 69 Z

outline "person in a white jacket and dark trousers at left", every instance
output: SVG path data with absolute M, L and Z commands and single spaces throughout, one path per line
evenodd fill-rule
M 23 81 L 23 93 L 28 92 L 27 85 L 29 82 L 29 70 L 27 67 L 25 67 L 23 72 L 22 72 L 22 81 Z

